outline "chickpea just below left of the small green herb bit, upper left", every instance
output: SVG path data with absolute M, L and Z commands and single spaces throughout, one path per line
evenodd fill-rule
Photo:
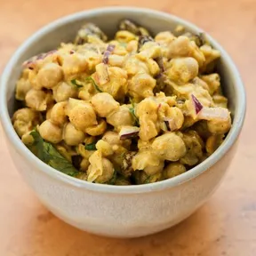
M 65 101 L 69 98 L 76 98 L 77 93 L 78 92 L 74 86 L 65 82 L 60 82 L 52 89 L 53 99 L 56 102 Z

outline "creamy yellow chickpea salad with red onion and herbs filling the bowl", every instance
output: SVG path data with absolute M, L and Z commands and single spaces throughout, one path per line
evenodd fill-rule
M 77 179 L 146 184 L 188 172 L 231 127 L 204 35 L 150 34 L 122 20 L 115 37 L 85 24 L 73 43 L 23 63 L 12 124 L 45 164 Z

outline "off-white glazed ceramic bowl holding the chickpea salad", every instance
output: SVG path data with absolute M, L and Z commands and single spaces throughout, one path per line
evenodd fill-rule
M 111 36 L 118 21 L 124 18 L 135 20 L 155 33 L 173 29 L 177 24 L 191 32 L 202 32 L 188 21 L 164 12 L 133 7 L 101 8 L 56 20 L 28 38 L 12 56 L 1 79 L 0 109 L 13 163 L 50 211 L 76 228 L 95 234 L 134 237 L 170 228 L 195 212 L 220 184 L 234 156 L 235 142 L 244 122 L 245 93 L 234 63 L 220 44 L 207 36 L 221 52 L 219 69 L 234 118 L 232 128 L 224 143 L 204 163 L 171 180 L 124 187 L 76 180 L 36 158 L 20 141 L 10 119 L 15 82 L 24 60 L 70 41 L 86 21 L 95 22 Z

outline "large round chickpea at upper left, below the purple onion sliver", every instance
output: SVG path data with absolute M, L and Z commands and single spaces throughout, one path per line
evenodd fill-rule
M 52 89 L 63 77 L 62 68 L 56 63 L 47 63 L 40 68 L 36 82 L 42 87 Z

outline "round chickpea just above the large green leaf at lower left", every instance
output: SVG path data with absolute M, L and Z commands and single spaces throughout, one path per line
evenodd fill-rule
M 44 140 L 57 144 L 62 140 L 62 131 L 59 126 L 46 120 L 39 126 L 38 132 Z

